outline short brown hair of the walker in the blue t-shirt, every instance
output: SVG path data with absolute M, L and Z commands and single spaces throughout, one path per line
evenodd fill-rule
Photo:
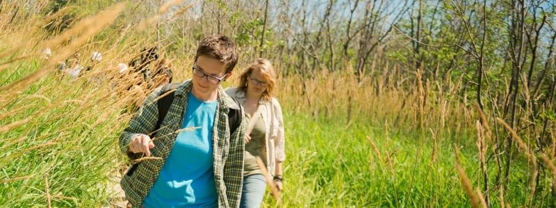
M 226 35 L 213 35 L 205 37 L 195 55 L 195 61 L 199 56 L 204 55 L 208 58 L 214 58 L 226 65 L 226 73 L 234 70 L 238 63 L 238 51 L 236 51 L 236 44 Z

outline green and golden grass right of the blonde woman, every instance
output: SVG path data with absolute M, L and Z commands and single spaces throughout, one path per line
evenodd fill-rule
M 446 92 L 432 87 L 384 85 L 377 91 L 373 82 L 384 79 L 357 83 L 349 76 L 326 72 L 311 80 L 281 78 L 278 96 L 285 106 L 288 147 L 286 191 L 279 204 L 267 196 L 265 207 L 486 205 L 481 164 L 486 173 L 496 172 L 497 167 L 493 155 L 487 154 L 493 141 L 480 136 L 482 127 L 473 126 L 471 118 L 479 115 L 445 98 L 454 95 L 442 95 Z M 434 93 L 419 98 L 427 91 Z M 356 113 L 350 115 L 348 101 Z M 418 107 L 423 102 L 442 105 Z M 423 127 L 418 125 L 419 116 L 425 118 Z M 490 190 L 491 206 L 530 206 L 532 201 L 539 207 L 551 205 L 549 189 L 532 196 L 534 178 L 523 181 L 531 174 L 526 155 L 514 158 L 516 165 L 508 179 L 513 182 L 507 189 Z M 496 187 L 493 174 L 488 177 L 486 183 Z M 546 175 L 541 186 L 550 187 L 550 178 Z

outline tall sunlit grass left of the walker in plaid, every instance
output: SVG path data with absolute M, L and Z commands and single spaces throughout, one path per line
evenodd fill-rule
M 14 3 L 0 4 L 2 27 L 10 28 L 0 41 L 0 207 L 110 205 L 117 193 L 109 182 L 124 162 L 117 136 L 130 118 L 124 107 L 136 96 L 124 92 L 136 80 L 109 78 L 117 77 L 115 64 L 133 58 L 134 52 L 122 51 L 139 51 L 142 42 L 125 40 L 117 30 L 105 35 L 120 37 L 113 41 L 118 44 L 90 42 L 122 4 L 47 37 L 42 25 L 31 24 L 40 16 L 18 16 Z M 46 47 L 54 54 L 43 60 Z M 56 69 L 75 52 L 86 67 L 97 50 L 103 62 L 75 80 Z

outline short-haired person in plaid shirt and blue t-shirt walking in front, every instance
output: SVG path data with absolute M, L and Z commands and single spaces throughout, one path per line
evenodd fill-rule
M 133 207 L 238 207 L 245 119 L 243 109 L 220 87 L 237 61 L 229 37 L 206 37 L 197 48 L 193 78 L 177 87 L 158 130 L 161 87 L 142 103 L 120 136 L 124 153 L 146 157 L 122 177 Z M 230 110 L 239 111 L 236 130 L 229 127 Z

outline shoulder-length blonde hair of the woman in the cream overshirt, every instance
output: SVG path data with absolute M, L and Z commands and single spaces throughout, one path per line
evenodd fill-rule
M 249 67 L 247 67 L 247 69 L 245 69 L 245 71 L 241 73 L 239 77 L 240 84 L 238 88 L 242 92 L 247 91 L 247 83 L 249 82 L 248 79 L 250 78 L 251 73 L 253 73 L 254 70 L 261 71 L 263 78 L 265 78 L 265 80 L 261 81 L 268 83 L 265 92 L 263 92 L 263 98 L 267 101 L 270 101 L 270 99 L 272 99 L 272 92 L 274 92 L 274 87 L 276 85 L 276 72 L 274 71 L 274 67 L 272 67 L 272 64 L 270 64 L 270 60 L 268 59 L 257 58 L 256 60 L 253 60 Z

